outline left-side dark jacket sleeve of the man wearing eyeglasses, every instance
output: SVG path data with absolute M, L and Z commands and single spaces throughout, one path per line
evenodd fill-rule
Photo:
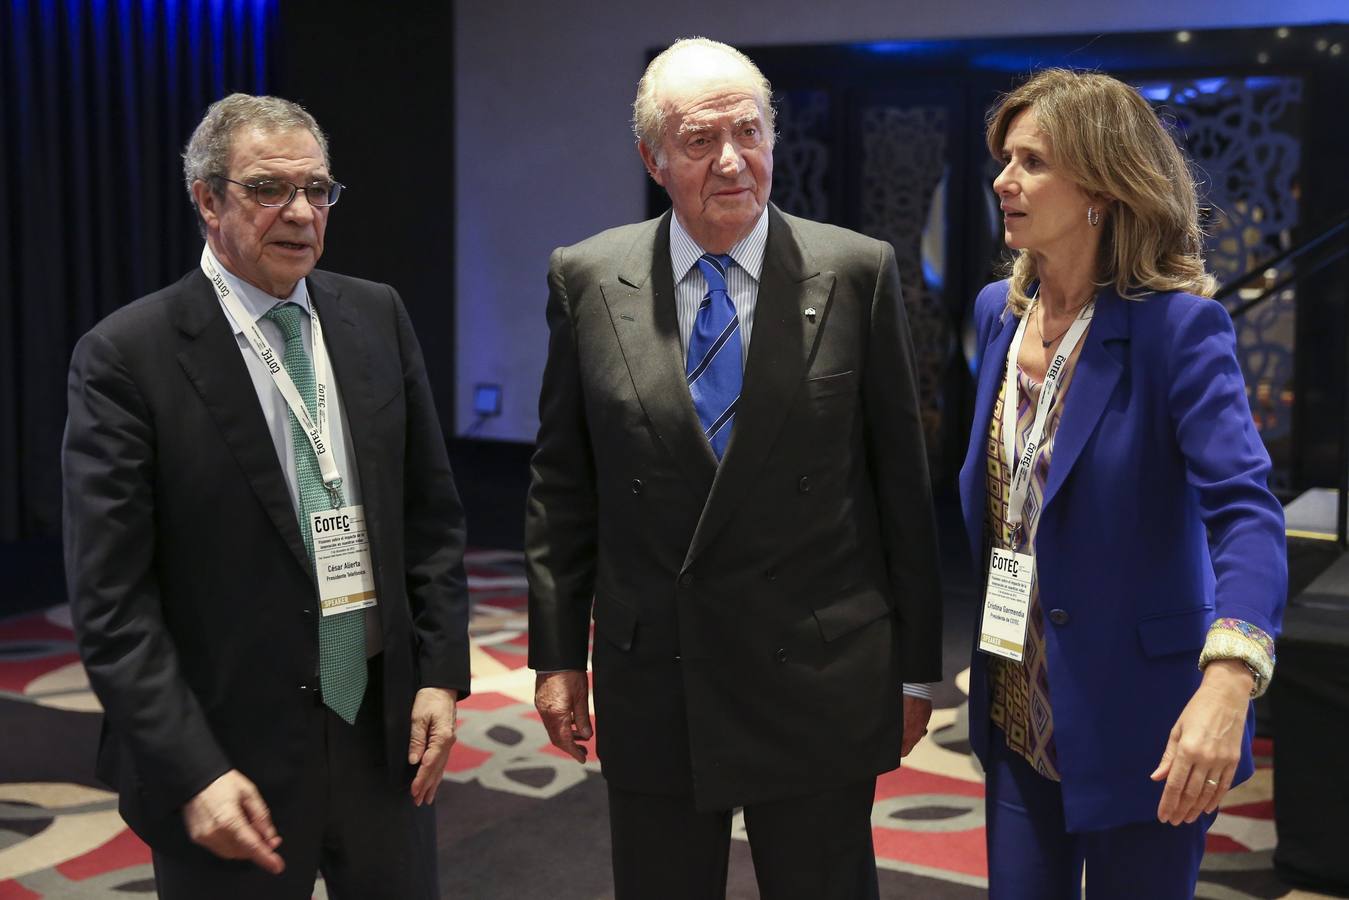
M 61 470 L 76 640 L 147 801 L 167 814 L 232 766 L 182 679 L 165 626 L 155 575 L 155 422 L 117 348 L 97 331 L 76 345 L 66 398 Z

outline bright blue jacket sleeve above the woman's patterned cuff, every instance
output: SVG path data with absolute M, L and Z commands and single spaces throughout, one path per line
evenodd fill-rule
M 1167 349 L 1168 406 L 1209 530 L 1217 615 L 1273 637 L 1288 592 L 1283 507 L 1269 493 L 1269 455 L 1251 418 L 1228 312 L 1194 302 Z

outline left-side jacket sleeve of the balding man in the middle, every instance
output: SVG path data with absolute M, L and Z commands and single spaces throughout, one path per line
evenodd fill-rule
M 585 668 L 595 594 L 599 501 L 565 267 L 565 252 L 554 251 L 548 362 L 525 507 L 529 665 L 542 671 Z

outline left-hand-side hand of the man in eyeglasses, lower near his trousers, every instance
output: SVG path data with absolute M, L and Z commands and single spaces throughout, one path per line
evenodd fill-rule
M 281 874 L 281 835 L 252 781 L 231 769 L 188 800 L 182 808 L 188 837 L 221 860 L 251 860 L 263 872 Z

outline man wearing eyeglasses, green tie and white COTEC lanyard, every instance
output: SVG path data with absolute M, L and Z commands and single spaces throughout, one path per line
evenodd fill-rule
M 318 271 L 314 119 L 213 104 L 200 267 L 76 347 L 66 572 L 98 775 L 163 897 L 437 897 L 468 694 L 463 509 L 387 285 Z

